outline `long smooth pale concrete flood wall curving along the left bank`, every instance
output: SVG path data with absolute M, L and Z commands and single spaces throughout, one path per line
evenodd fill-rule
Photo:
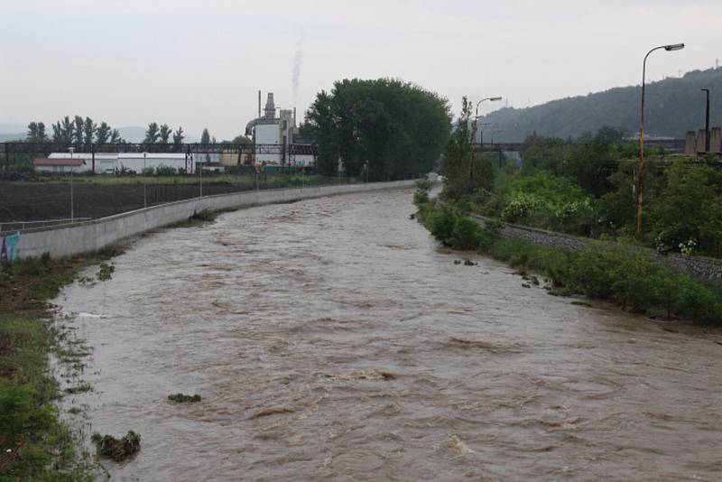
M 410 188 L 414 183 L 415 181 L 393 181 L 303 189 L 253 190 L 185 199 L 70 226 L 25 229 L 19 232 L 20 238 L 14 245 L 15 252 L 9 257 L 40 256 L 43 253 L 50 253 L 52 257 L 64 257 L 97 251 L 127 237 L 184 221 L 204 209 L 238 209 L 353 192 Z

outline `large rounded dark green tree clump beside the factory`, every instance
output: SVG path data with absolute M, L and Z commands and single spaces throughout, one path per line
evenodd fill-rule
M 369 162 L 372 181 L 428 172 L 449 136 L 446 99 L 393 79 L 342 80 L 321 91 L 306 114 L 302 134 L 319 145 L 318 169 L 334 175 L 338 159 L 347 175 Z

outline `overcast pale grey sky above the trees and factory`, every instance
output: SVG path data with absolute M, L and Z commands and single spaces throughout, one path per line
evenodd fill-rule
M 713 67 L 720 19 L 720 0 L 0 0 L 0 124 L 78 114 L 220 140 L 258 89 L 301 116 L 344 78 L 409 80 L 455 113 L 463 95 L 527 107 L 639 84 L 664 43 L 687 48 L 655 52 L 648 79 Z

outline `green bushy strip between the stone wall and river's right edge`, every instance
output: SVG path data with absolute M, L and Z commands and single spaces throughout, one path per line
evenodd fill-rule
M 518 270 L 542 273 L 549 278 L 551 294 L 584 294 L 650 316 L 722 324 L 722 287 L 675 273 L 632 246 L 599 243 L 581 251 L 534 246 L 498 236 L 501 225 L 482 228 L 429 200 L 425 186 L 414 202 L 421 222 L 445 246 L 474 250 Z

